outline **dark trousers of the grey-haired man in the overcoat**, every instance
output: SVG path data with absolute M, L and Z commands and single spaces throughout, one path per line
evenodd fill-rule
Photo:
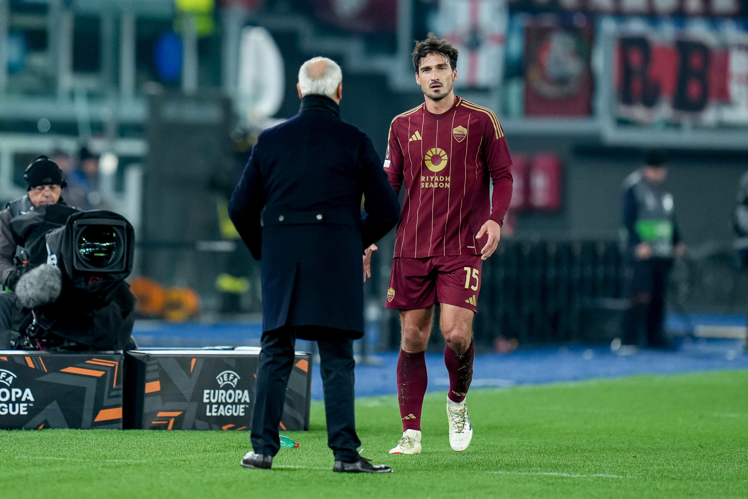
M 319 335 L 322 336 L 324 334 Z M 275 456 L 281 448 L 278 426 L 283 416 L 286 385 L 293 367 L 295 342 L 296 331 L 293 327 L 263 333 L 252 414 L 251 440 L 255 453 Z M 356 435 L 353 406 L 353 340 L 320 340 L 317 345 L 325 393 L 328 447 L 336 461 L 356 462 L 361 459 L 357 451 L 361 441 Z

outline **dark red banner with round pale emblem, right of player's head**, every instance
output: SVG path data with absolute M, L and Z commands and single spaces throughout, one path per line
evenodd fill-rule
M 524 25 L 524 114 L 589 116 L 592 19 L 533 16 Z

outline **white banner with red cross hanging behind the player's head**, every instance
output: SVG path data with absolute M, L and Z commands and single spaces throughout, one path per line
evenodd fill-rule
M 441 0 L 436 33 L 459 50 L 455 88 L 496 88 L 503 79 L 505 0 Z

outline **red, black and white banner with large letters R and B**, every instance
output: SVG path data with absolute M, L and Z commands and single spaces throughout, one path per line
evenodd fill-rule
M 601 20 L 613 32 L 613 113 L 619 123 L 713 129 L 748 125 L 744 20 Z

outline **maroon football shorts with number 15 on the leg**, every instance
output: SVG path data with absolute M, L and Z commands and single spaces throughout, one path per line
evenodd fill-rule
M 393 258 L 387 308 L 415 310 L 447 303 L 477 312 L 480 271 L 478 255 Z

